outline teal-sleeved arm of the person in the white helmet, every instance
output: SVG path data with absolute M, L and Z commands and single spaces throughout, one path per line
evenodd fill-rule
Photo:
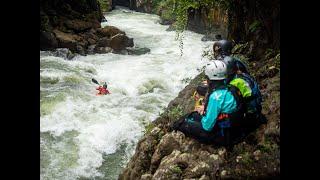
M 209 97 L 209 103 L 206 109 L 206 115 L 202 117 L 201 124 L 204 130 L 211 131 L 217 121 L 217 117 L 220 113 L 222 92 L 213 92 Z

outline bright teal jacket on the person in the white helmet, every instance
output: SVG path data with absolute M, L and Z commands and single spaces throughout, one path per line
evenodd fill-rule
M 236 111 L 237 102 L 227 89 L 218 89 L 209 96 L 206 114 L 201 119 L 202 128 L 211 131 L 220 113 L 231 114 Z

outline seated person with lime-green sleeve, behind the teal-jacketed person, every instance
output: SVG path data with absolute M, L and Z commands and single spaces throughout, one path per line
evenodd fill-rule
M 242 127 L 250 132 L 267 121 L 261 113 L 262 95 L 256 80 L 249 74 L 240 71 L 236 63 L 235 60 L 228 61 L 226 83 L 236 86 L 241 93 L 245 104 L 245 118 Z

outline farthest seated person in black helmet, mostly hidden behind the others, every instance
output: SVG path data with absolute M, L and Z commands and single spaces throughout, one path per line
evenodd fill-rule
M 248 67 L 244 64 L 240 59 L 231 57 L 232 50 L 232 42 L 227 40 L 220 40 L 213 44 L 213 56 L 216 60 L 224 61 L 224 63 L 228 64 L 228 61 L 235 61 L 235 66 L 237 70 L 250 74 L 248 71 Z

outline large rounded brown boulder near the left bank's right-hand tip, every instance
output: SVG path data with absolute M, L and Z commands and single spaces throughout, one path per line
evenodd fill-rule
M 117 34 L 111 37 L 110 47 L 115 51 L 121 51 L 126 47 L 133 47 L 133 38 L 129 38 L 123 34 Z

